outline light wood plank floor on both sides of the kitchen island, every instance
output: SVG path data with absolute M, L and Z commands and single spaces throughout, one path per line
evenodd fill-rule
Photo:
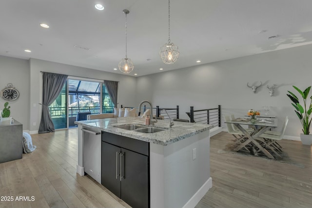
M 33 134 L 37 149 L 0 164 L 0 208 L 129 208 L 88 176 L 76 174 L 77 129 Z M 233 140 L 227 132 L 211 138 L 210 189 L 196 208 L 312 208 L 312 148 L 298 141 L 280 144 L 304 169 L 257 157 L 217 153 Z M 16 196 L 35 197 L 17 201 Z

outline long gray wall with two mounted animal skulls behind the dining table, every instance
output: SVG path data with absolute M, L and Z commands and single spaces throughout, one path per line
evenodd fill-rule
M 221 105 L 222 115 L 242 116 L 248 109 L 263 110 L 262 106 L 270 105 L 270 113 L 279 119 L 277 131 L 288 115 L 285 135 L 297 139 L 302 128 L 286 93 L 294 92 L 292 85 L 303 90 L 312 85 L 311 51 L 312 45 L 306 45 L 140 76 L 137 100 L 150 99 L 153 105 L 164 107 L 179 105 L 181 118 L 188 118 L 185 112 L 190 106 L 199 110 Z M 257 81 L 262 81 L 263 86 L 254 94 L 246 84 Z M 272 97 L 267 84 L 278 85 Z

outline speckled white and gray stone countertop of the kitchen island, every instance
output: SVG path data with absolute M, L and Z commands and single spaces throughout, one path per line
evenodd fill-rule
M 76 121 L 75 124 L 82 125 L 82 127 L 88 127 L 97 131 L 115 133 L 117 135 L 152 142 L 164 146 L 188 138 L 197 133 L 208 131 L 209 129 L 213 128 L 212 125 L 208 124 L 187 123 L 179 121 L 174 121 L 175 125 L 169 128 L 169 119 L 157 121 L 158 122 L 155 124 L 154 127 L 165 128 L 165 131 L 155 133 L 142 133 L 116 128 L 116 126 L 122 126 L 127 124 L 144 125 L 145 118 L 140 117 L 94 119 L 86 121 Z

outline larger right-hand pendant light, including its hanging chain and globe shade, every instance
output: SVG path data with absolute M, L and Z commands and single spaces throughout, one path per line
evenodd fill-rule
M 159 51 L 159 56 L 165 64 L 175 63 L 180 54 L 178 47 L 170 42 L 170 0 L 168 0 L 168 31 L 168 42 Z

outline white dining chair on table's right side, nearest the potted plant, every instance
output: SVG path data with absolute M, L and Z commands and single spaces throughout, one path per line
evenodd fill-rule
M 277 156 L 281 157 L 280 153 L 282 152 L 282 146 L 277 143 L 277 141 L 281 140 L 284 136 L 287 124 L 288 124 L 288 116 L 286 116 L 281 132 L 275 131 L 267 131 L 262 133 L 259 137 L 264 139 L 266 148 L 273 151 Z

